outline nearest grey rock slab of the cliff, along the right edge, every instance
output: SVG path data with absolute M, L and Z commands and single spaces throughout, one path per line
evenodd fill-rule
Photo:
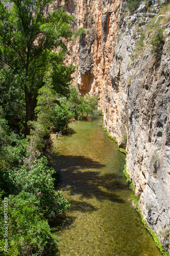
M 131 70 L 128 90 L 127 170 L 140 197 L 147 224 L 159 234 L 169 232 L 170 203 L 170 40 L 167 38 L 160 67 L 150 49 Z M 166 233 L 166 236 L 167 236 Z M 161 237 L 168 246 L 165 235 Z

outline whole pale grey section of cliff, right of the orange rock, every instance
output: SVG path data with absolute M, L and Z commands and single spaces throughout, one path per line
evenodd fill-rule
M 127 172 L 140 198 L 139 208 L 148 226 L 169 250 L 170 38 L 166 38 L 161 60 L 151 54 L 149 44 L 143 52 L 134 51 L 135 38 L 141 36 L 137 34 L 141 19 L 145 17 L 146 24 L 152 16 L 137 13 L 118 20 L 110 79 L 111 98 L 116 99 L 120 112 L 117 125 L 115 118 L 113 124 L 108 118 L 105 123 L 116 138 L 122 133 L 119 122 L 125 124 Z

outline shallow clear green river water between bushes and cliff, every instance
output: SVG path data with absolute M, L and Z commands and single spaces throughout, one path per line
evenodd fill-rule
M 161 255 L 128 201 L 132 191 L 123 176 L 125 155 L 102 130 L 102 120 L 70 123 L 70 133 L 54 137 L 57 190 L 71 203 L 54 225 L 61 256 Z

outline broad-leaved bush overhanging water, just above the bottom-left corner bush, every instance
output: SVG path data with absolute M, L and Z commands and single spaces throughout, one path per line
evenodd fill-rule
M 24 158 L 23 166 L 10 174 L 14 180 L 17 193 L 22 189 L 31 193 L 40 202 L 40 212 L 46 218 L 56 218 L 59 212 L 64 212 L 70 204 L 62 196 L 61 191 L 55 194 L 53 175 L 55 170 L 47 166 L 47 159 Z

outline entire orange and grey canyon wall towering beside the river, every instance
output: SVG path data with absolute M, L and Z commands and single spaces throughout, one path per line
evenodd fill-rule
M 75 16 L 72 29 L 85 30 L 68 44 L 66 62 L 78 65 L 73 81 L 80 93 L 98 95 L 104 126 L 126 147 L 127 172 L 143 218 L 169 250 L 170 25 L 158 24 L 166 29 L 161 59 L 151 53 L 153 32 L 144 35 L 144 47 L 137 47 L 160 4 L 149 1 L 148 6 L 143 3 L 130 14 L 124 1 L 65 2 L 65 10 Z

